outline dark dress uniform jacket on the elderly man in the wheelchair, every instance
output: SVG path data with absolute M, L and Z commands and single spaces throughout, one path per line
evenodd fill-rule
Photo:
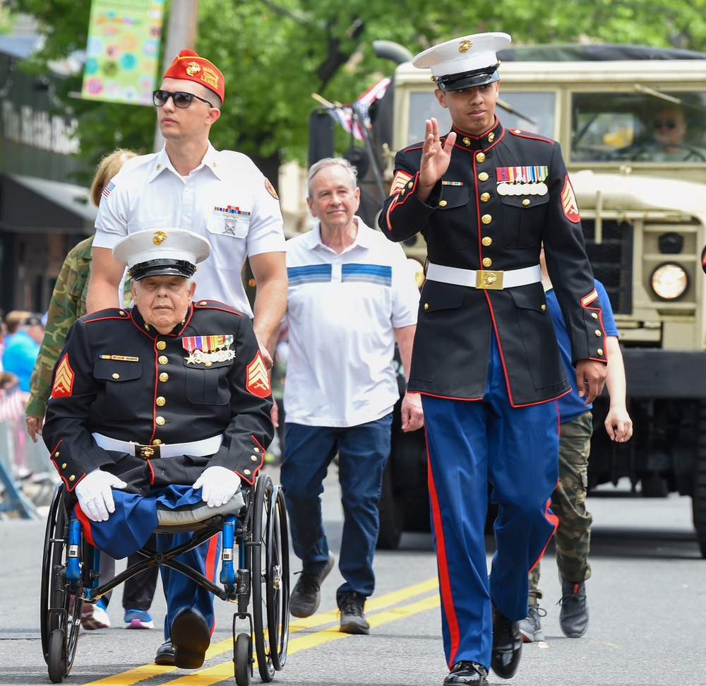
M 234 355 L 208 365 L 189 361 L 189 337 L 222 335 L 232 336 Z M 259 350 L 249 317 L 210 300 L 196 300 L 166 335 L 145 324 L 137 309 L 78 319 L 54 369 L 43 431 L 68 489 L 95 468 L 121 476 L 126 491 L 142 495 L 152 487 L 191 485 L 215 465 L 253 483 L 274 432 Z M 213 456 L 145 460 L 134 451 L 98 447 L 92 432 L 150 446 L 220 434 L 223 442 Z

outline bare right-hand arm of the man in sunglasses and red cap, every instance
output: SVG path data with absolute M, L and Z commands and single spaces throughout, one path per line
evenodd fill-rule
M 284 252 L 263 252 L 250 258 L 256 292 L 253 307 L 253 329 L 268 369 L 272 367 L 274 350 L 268 350 L 273 333 L 280 326 L 287 308 L 287 264 Z

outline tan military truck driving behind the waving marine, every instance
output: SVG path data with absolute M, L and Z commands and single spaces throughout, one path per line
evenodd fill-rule
M 441 131 L 450 126 L 429 72 L 409 64 L 404 49 L 379 45 L 381 57 L 399 64 L 364 145 L 345 153 L 364 172 L 361 212 L 373 226 L 395 151 L 419 141 L 429 117 Z M 620 331 L 634 435 L 624 445 L 607 438 L 607 396 L 598 398 L 588 485 L 628 477 L 645 496 L 689 495 L 706 557 L 706 54 L 552 45 L 498 57 L 496 113 L 506 128 L 561 143 L 587 252 Z M 663 144 L 676 129 L 681 141 Z M 421 236 L 405 250 L 424 261 Z M 381 547 L 395 547 L 402 530 L 429 526 L 423 432 L 393 438 Z

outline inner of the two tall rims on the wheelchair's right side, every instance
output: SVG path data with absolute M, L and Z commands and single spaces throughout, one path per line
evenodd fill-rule
M 253 629 L 255 631 L 255 651 L 258 656 L 258 671 L 264 682 L 275 677 L 270 631 L 267 611 L 267 565 L 268 565 L 268 530 L 270 521 L 270 498 L 273 492 L 272 479 L 261 473 L 255 482 L 253 502 L 252 533 L 252 570 L 253 585 Z

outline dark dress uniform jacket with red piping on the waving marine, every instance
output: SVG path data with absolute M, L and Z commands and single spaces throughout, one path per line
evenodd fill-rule
M 429 261 L 473 270 L 537 265 L 544 242 L 574 362 L 605 362 L 599 300 L 558 143 L 529 131 L 503 129 L 497 118 L 483 136 L 456 131 L 448 170 L 426 203 L 416 194 L 422 143 L 397 153 L 381 230 L 396 242 L 421 232 Z M 508 175 L 522 179 L 544 173 L 544 194 L 530 193 L 529 186 L 515 186 L 520 194 L 498 193 L 498 184 Z M 426 280 L 421 293 L 409 391 L 481 398 L 493 329 L 513 406 L 568 391 L 541 283 L 484 290 L 432 280 Z

